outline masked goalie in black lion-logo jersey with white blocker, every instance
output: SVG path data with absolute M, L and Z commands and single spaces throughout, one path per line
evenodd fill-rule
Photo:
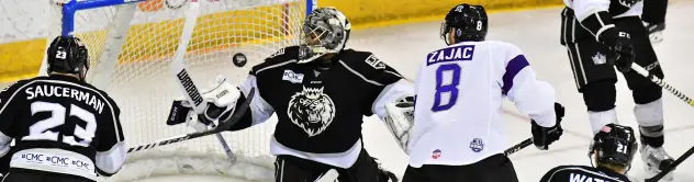
M 387 117 L 389 103 L 412 101 L 412 83 L 376 55 L 345 49 L 350 24 L 334 8 L 314 10 L 302 32 L 301 46 L 282 48 L 254 66 L 240 92 L 224 81 L 203 92 L 214 102 L 206 110 L 217 114 L 192 117 L 189 125 L 209 129 L 205 123 L 223 121 L 217 118 L 233 113 L 255 88 L 248 112 L 232 130 L 277 114 L 270 152 L 277 156 L 278 182 L 315 181 L 331 169 L 340 182 L 396 180 L 363 149 L 361 124 L 363 116 Z

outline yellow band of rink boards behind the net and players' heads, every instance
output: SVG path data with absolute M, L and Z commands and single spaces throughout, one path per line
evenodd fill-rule
M 355 29 L 368 29 L 422 21 L 441 21 L 450 8 L 463 2 L 482 4 L 492 12 L 562 3 L 561 0 L 320 0 L 318 7 L 335 7 L 347 15 Z M 188 52 L 209 52 L 239 44 L 280 38 L 284 36 L 284 33 L 278 31 L 282 30 L 281 26 L 283 26 L 282 16 L 268 16 L 267 14 L 281 14 L 281 5 L 284 4 L 256 7 L 201 16 L 198 20 Z M 253 19 L 254 16 L 262 16 L 262 21 Z M 181 34 L 182 22 L 183 19 L 178 19 L 133 25 L 128 31 L 119 61 L 156 60 L 160 57 L 172 57 Z M 220 25 L 221 22 L 234 23 Z M 259 26 L 259 24 L 264 24 L 264 26 Z M 146 30 L 168 31 L 153 32 Z M 76 36 L 99 39 L 96 37 L 103 37 L 104 35 L 105 31 L 93 31 Z M 0 82 L 36 76 L 45 54 L 46 41 L 46 38 L 37 38 L 0 44 L 0 65 L 2 65 L 0 67 Z M 103 41 L 101 38 L 100 41 L 88 42 L 92 58 L 103 52 L 102 48 L 97 48 L 103 47 L 101 46 Z M 125 59 L 123 55 L 130 56 L 126 56 L 127 59 Z

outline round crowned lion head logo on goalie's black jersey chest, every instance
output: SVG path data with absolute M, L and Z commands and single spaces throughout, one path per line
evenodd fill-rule
M 296 126 L 309 134 L 309 137 L 320 135 L 333 123 L 335 103 L 323 88 L 303 88 L 289 100 L 287 115 Z

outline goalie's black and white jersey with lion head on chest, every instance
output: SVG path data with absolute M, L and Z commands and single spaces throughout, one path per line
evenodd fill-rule
M 256 88 L 256 95 L 250 114 L 233 129 L 262 123 L 276 113 L 270 147 L 276 156 L 349 167 L 362 149 L 363 116 L 384 118 L 387 103 L 414 94 L 408 81 L 368 52 L 344 49 L 323 71 L 314 62 L 298 64 L 298 46 L 280 49 L 255 66 L 240 86 L 244 94 Z

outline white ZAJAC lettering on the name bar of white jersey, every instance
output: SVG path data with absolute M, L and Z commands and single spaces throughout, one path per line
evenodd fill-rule
M 429 55 L 427 55 L 426 66 L 455 60 L 472 60 L 473 52 L 474 45 L 447 47 L 437 52 L 429 53 Z

